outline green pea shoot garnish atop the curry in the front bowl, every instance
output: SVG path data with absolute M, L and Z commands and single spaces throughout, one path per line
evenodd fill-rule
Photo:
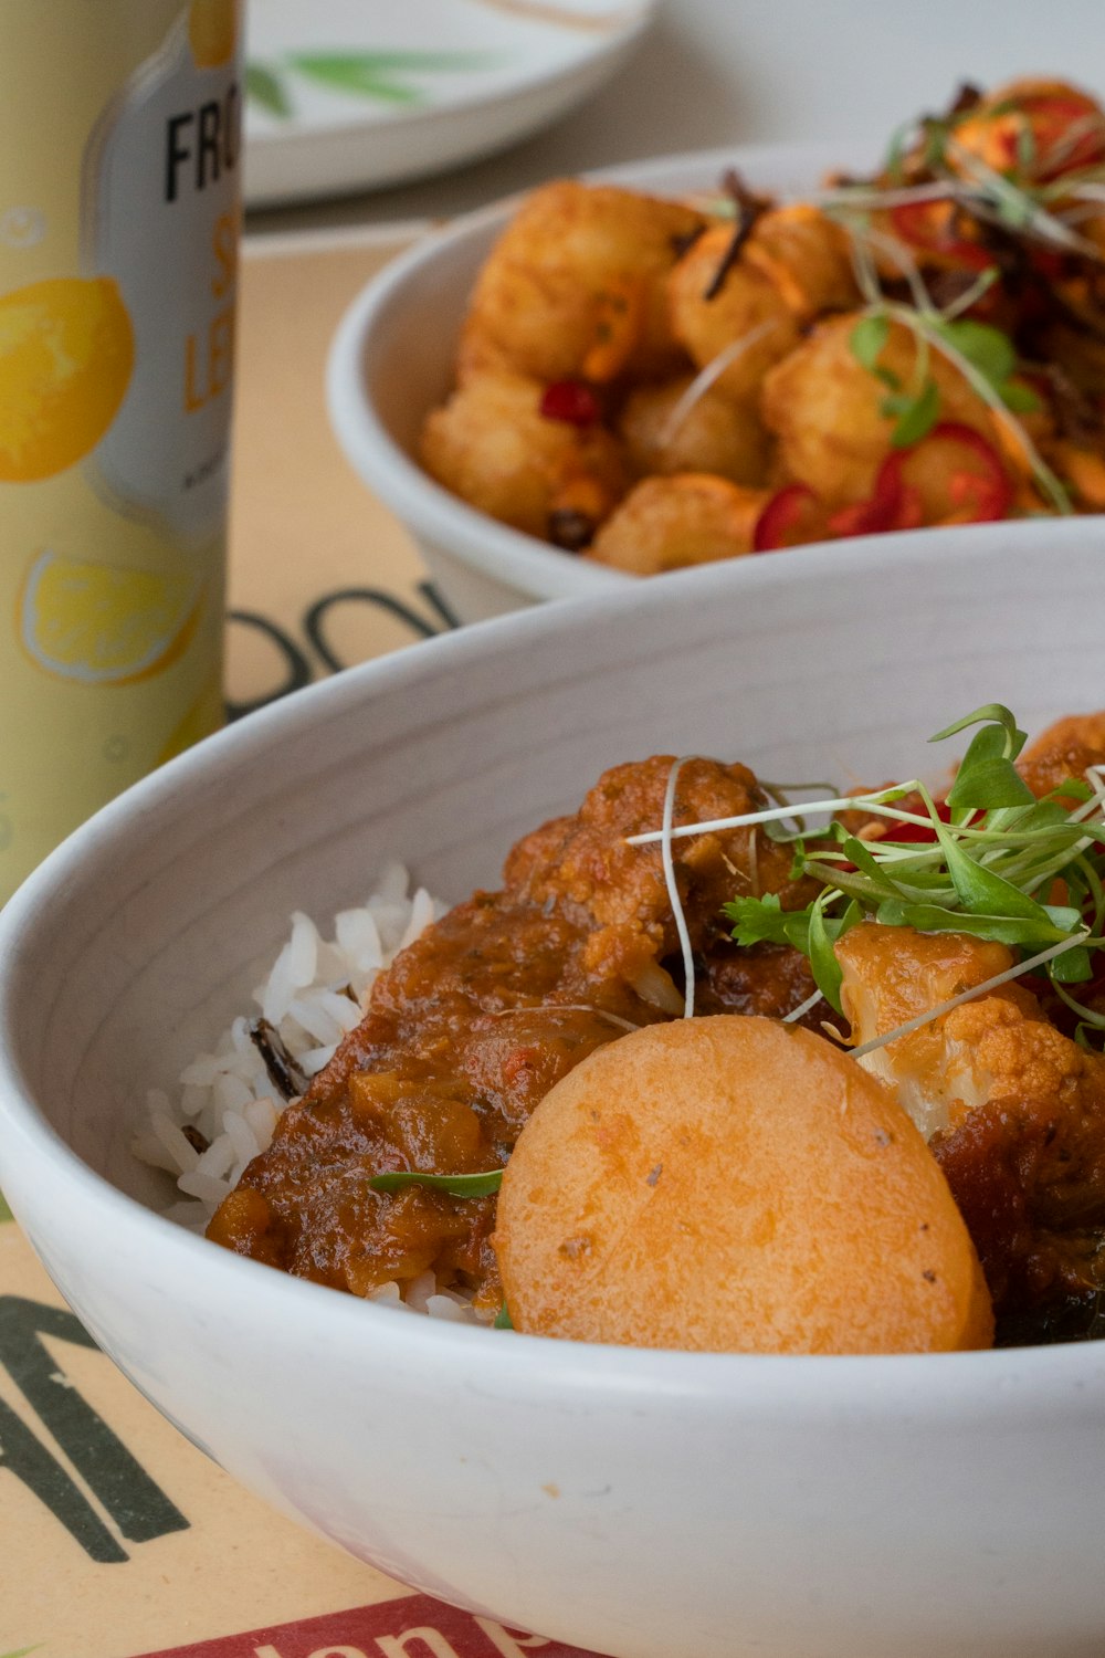
M 1105 1030 L 1105 1016 L 1078 1003 L 1069 987 L 1093 978 L 1092 953 L 1105 945 L 1105 776 L 1090 768 L 1085 779 L 1069 779 L 1037 799 L 1016 769 L 1025 734 L 1001 703 L 976 708 L 931 741 L 972 728 L 943 801 L 913 778 L 866 794 L 800 806 L 784 802 L 712 822 L 668 824 L 633 836 L 633 844 L 669 844 L 683 836 L 739 827 L 762 827 L 774 841 L 790 844 L 794 877 L 822 882 L 817 899 L 802 910 L 784 910 L 774 894 L 741 897 L 726 905 L 726 915 L 741 945 L 769 942 L 800 950 L 810 962 L 818 996 L 837 1013 L 842 972 L 833 947 L 850 927 L 875 920 L 1007 945 L 1017 953 L 1016 965 L 963 1000 L 1039 972 L 1078 1013 L 1085 1041 L 1088 1030 Z M 840 821 L 842 812 L 863 812 L 880 822 L 881 832 L 856 834 Z M 805 826 L 807 817 L 825 816 L 830 816 L 825 827 Z M 810 998 L 790 1016 L 815 1001 L 817 996 Z M 878 1038 L 878 1045 L 900 1035 L 903 1030 Z

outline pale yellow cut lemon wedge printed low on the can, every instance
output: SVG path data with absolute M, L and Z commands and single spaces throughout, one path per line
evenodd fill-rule
M 128 685 L 162 673 L 195 633 L 202 589 L 187 572 L 161 574 L 43 552 L 20 595 L 20 638 L 63 680 Z

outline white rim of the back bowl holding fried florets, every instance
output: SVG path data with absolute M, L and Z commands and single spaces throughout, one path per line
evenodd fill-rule
M 591 184 L 621 184 L 663 194 L 664 181 L 671 176 L 701 172 L 706 189 L 707 181 L 719 177 L 727 166 L 752 174 L 797 172 L 815 177 L 825 167 L 870 162 L 868 146 L 802 139 L 649 156 L 588 171 L 581 177 Z M 528 194 L 532 191 L 515 191 L 475 212 L 461 214 L 447 225 L 419 237 L 369 279 L 333 335 L 326 358 L 326 408 L 353 469 L 416 534 L 442 542 L 484 575 L 532 597 L 570 599 L 626 587 L 638 577 L 573 557 L 537 536 L 500 524 L 436 482 L 388 431 L 364 375 L 364 355 L 386 335 L 409 279 L 447 267 L 457 250 L 482 239 L 490 229 L 505 225 Z

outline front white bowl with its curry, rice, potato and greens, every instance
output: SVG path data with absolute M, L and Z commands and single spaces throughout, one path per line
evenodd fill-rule
M 93 1336 L 535 1641 L 1105 1640 L 1100 532 L 886 545 L 341 675 L 0 917 L 0 1180 Z

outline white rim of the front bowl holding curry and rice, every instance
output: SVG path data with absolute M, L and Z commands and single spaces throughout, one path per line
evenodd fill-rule
M 1075 532 L 1087 532 L 1085 517 L 1065 521 L 1069 529 L 1060 529 L 1060 522 L 1049 527 L 1049 534 L 1060 542 L 1067 534 L 1074 539 Z M 969 554 L 949 554 L 941 531 L 905 531 L 888 537 L 888 542 L 896 542 L 895 557 L 924 565 L 933 574 L 934 557 L 966 555 L 997 565 L 1007 557 L 1011 527 L 1019 531 L 1016 539 L 1025 547 L 1039 541 L 1039 526 L 1025 521 L 1022 526 L 979 526 L 982 534 L 971 537 Z M 832 580 L 858 579 L 868 565 L 861 542 L 838 542 L 815 557 L 825 560 L 825 577 Z M 628 625 L 633 615 L 681 599 L 709 607 L 712 594 L 732 587 L 749 594 L 760 585 L 802 580 L 802 560 L 782 565 L 757 560 L 747 574 L 750 580 L 732 565 L 706 565 L 678 572 L 664 584 L 633 584 L 628 592 L 601 594 L 568 607 L 557 604 L 520 610 L 427 640 L 417 650 L 376 658 L 282 698 L 207 738 L 104 806 L 50 854 L 0 912 L 0 1179 L 5 1167 L 18 1162 L 20 1180 L 45 1180 L 56 1202 L 86 1219 L 89 1237 L 98 1235 L 98 1229 L 109 1229 L 126 1242 L 128 1255 L 134 1252 L 144 1262 L 161 1262 L 167 1282 L 209 1287 L 212 1305 L 249 1302 L 272 1318 L 275 1328 L 287 1316 L 285 1303 L 292 1297 L 290 1305 L 306 1323 L 330 1328 L 336 1340 L 356 1341 L 359 1326 L 359 1340 L 368 1346 L 388 1341 L 396 1355 L 427 1365 L 451 1355 L 457 1363 L 480 1368 L 479 1355 L 487 1353 L 494 1358 L 495 1374 L 509 1376 L 512 1384 L 538 1398 L 562 1394 L 565 1388 L 630 1389 L 635 1394 L 651 1389 L 697 1404 L 712 1401 L 721 1411 L 739 1404 L 742 1411 L 765 1416 L 777 1416 L 780 1403 L 785 1403 L 807 1418 L 832 1418 L 861 1408 L 883 1419 L 916 1416 L 918 1411 L 928 1418 L 954 1414 L 963 1419 L 969 1406 L 967 1414 L 989 1421 L 994 1414 L 1022 1409 L 1025 1389 L 1030 1389 L 1034 1404 L 1045 1398 L 1070 1409 L 1082 1399 L 1088 1408 L 1087 1381 L 1105 1381 L 1105 1345 L 1092 1341 L 939 1355 L 683 1353 L 547 1336 L 497 1343 L 487 1330 L 364 1305 L 355 1297 L 222 1250 L 129 1197 L 66 1144 L 33 1099 L 18 1058 L 15 991 L 20 963 L 33 952 L 36 917 L 80 889 L 81 865 L 89 854 L 103 857 L 103 849 L 124 842 L 128 831 L 141 832 L 136 826 L 149 807 L 187 793 L 197 776 L 232 776 L 240 759 L 280 744 L 288 730 L 315 725 L 320 713 L 358 708 L 379 686 L 417 683 L 431 665 L 457 670 L 485 655 L 489 647 L 517 652 L 577 620 L 605 625 L 615 617 L 626 617 Z M 18 1200 L 13 1210 L 18 1220 Z

